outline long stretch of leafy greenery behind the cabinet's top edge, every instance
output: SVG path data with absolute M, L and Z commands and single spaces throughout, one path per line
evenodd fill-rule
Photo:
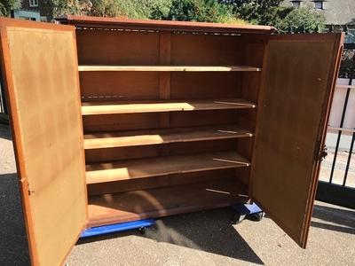
M 45 0 L 47 16 L 60 14 L 130 19 L 210 21 L 245 24 L 217 0 Z

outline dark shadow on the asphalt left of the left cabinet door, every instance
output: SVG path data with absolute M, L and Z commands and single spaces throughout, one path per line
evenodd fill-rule
M 0 175 L 0 265 L 29 265 L 16 174 Z

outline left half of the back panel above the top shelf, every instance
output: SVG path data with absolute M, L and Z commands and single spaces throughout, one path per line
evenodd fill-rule
M 79 65 L 156 65 L 159 34 L 77 29 Z

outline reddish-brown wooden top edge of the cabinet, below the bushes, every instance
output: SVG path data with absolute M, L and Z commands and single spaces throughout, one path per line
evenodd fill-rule
M 146 29 L 166 31 L 190 31 L 206 33 L 256 33 L 268 34 L 275 31 L 271 26 L 237 25 L 210 22 L 188 22 L 171 20 L 129 20 L 119 18 L 87 17 L 65 15 L 56 18 L 63 24 L 75 27 L 105 27 L 122 29 Z

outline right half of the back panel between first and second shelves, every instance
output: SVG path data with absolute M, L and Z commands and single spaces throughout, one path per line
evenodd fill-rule
M 235 98 L 241 74 L 229 73 L 171 73 L 170 98 Z

